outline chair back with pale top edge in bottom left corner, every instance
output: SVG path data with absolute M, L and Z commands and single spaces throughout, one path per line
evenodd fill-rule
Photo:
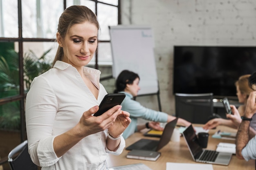
M 27 140 L 13 148 L 8 155 L 11 170 L 37 170 L 38 167 L 31 161 Z

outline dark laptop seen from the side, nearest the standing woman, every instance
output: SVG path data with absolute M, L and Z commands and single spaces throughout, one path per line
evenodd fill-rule
M 177 124 L 177 119 L 170 121 L 164 127 L 164 131 L 160 137 L 160 140 L 153 139 L 140 139 L 130 146 L 126 147 L 126 150 L 150 150 L 150 151 L 158 151 L 163 148 L 166 144 L 171 140 L 171 136 L 173 134 L 173 130 Z

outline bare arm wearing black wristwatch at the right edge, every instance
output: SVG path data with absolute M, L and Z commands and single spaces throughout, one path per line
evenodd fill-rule
M 246 119 L 251 119 L 254 113 L 256 113 L 256 103 L 255 103 L 256 91 L 250 93 L 247 104 L 245 108 L 244 117 Z M 249 142 L 249 120 L 243 120 L 238 128 L 238 132 L 236 135 L 236 156 L 239 159 L 244 159 L 242 155 L 242 150 L 245 148 L 247 143 Z M 245 155 L 246 157 L 248 155 Z

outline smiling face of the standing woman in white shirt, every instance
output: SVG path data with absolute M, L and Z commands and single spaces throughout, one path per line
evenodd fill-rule
M 64 51 L 63 62 L 77 69 L 87 65 L 97 49 L 97 35 L 98 28 L 92 23 L 74 24 L 65 39 L 61 43 L 58 41 Z

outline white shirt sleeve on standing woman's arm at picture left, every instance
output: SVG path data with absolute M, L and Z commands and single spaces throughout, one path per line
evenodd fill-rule
M 40 84 L 40 86 L 39 86 Z M 40 89 L 34 87 L 41 87 Z M 26 99 L 26 126 L 31 160 L 38 166 L 51 166 L 57 158 L 52 135 L 56 106 L 54 91 L 42 77 L 36 77 Z M 47 97 L 45 97 L 47 96 Z

